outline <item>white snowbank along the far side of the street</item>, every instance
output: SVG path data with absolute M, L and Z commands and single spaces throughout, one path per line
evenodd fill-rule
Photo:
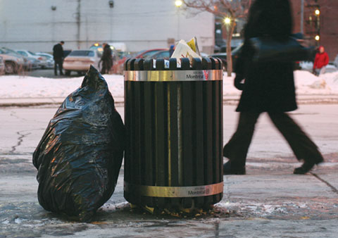
M 294 72 L 297 94 L 338 94 L 338 71 L 325 73 L 317 77 L 305 70 Z M 104 75 L 109 90 L 114 97 L 123 97 L 123 75 Z M 233 78 L 223 78 L 223 93 L 225 96 L 239 95 L 234 88 Z M 28 77 L 20 75 L 0 76 L 0 99 L 66 97 L 75 91 L 83 77 L 51 79 L 46 77 Z

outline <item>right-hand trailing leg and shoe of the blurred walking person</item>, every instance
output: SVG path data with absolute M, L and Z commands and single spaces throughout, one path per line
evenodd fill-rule
M 287 113 L 269 113 L 273 124 L 282 133 L 283 137 L 291 147 L 296 158 L 304 163 L 301 168 L 296 168 L 294 173 L 307 173 L 315 164 L 323 162 L 323 156 L 320 154 L 318 147 L 301 130 L 301 127 L 287 115 Z

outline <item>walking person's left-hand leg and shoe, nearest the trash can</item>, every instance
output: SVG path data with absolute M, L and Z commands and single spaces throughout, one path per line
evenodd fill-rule
M 229 158 L 229 162 L 224 165 L 224 170 L 244 170 L 245 173 L 246 154 L 248 154 L 259 115 L 260 113 L 249 112 L 239 114 L 237 130 L 223 148 L 223 156 Z M 231 171 L 224 172 L 225 174 L 231 173 Z

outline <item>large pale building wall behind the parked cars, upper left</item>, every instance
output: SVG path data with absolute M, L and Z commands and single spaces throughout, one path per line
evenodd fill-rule
M 108 0 L 0 0 L 0 46 L 12 49 L 51 51 L 63 40 L 64 49 L 125 42 L 129 51 L 139 51 L 193 36 L 201 51 L 213 49 L 213 15 L 192 15 L 176 8 L 174 0 L 114 0 L 113 8 Z

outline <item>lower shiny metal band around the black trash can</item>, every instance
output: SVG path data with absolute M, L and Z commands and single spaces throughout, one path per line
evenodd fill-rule
M 125 192 L 135 193 L 139 196 L 155 196 L 167 198 L 211 196 L 223 192 L 223 182 L 191 187 L 159 187 L 129 184 L 128 182 L 125 182 L 124 190 Z

